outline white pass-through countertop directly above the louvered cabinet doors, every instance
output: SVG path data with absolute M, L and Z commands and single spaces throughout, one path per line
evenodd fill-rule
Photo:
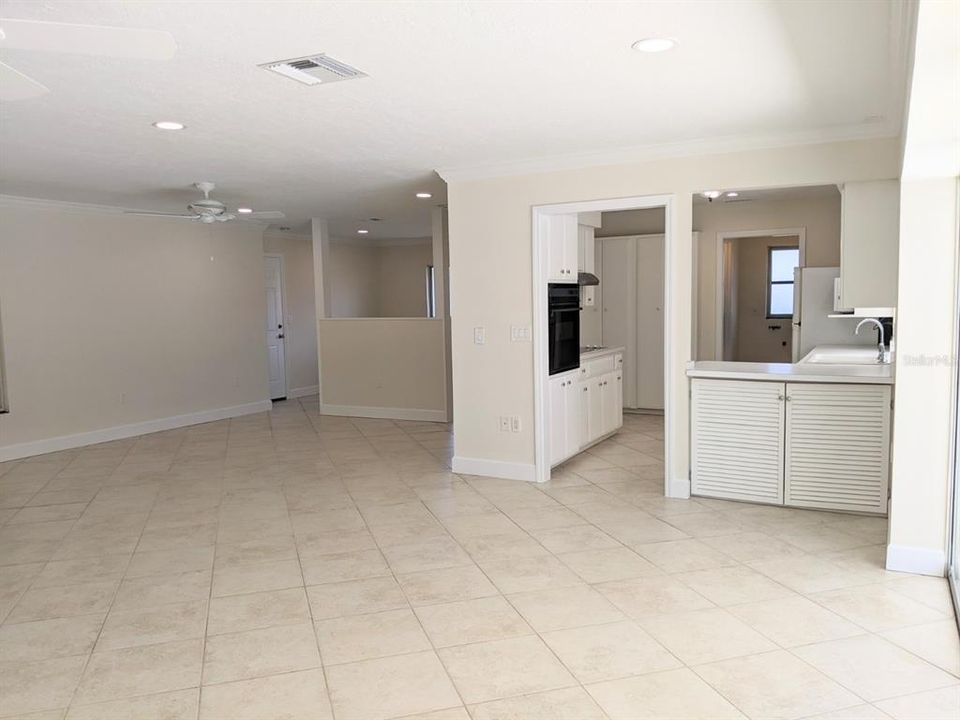
M 773 380 L 893 385 L 893 365 L 828 365 L 826 363 L 737 363 L 700 360 L 687 363 L 687 377 L 721 380 Z

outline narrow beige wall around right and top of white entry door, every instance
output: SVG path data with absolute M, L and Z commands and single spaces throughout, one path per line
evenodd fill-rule
M 317 314 L 313 295 L 313 243 L 309 237 L 264 233 L 263 251 L 283 256 L 287 387 L 299 397 L 317 387 Z

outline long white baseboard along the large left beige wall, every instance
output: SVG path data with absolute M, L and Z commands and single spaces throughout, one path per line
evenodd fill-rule
M 226 420 L 227 418 L 240 417 L 241 415 L 269 412 L 270 408 L 271 404 L 269 400 L 260 400 L 244 405 L 217 408 L 216 410 L 203 410 L 187 415 L 173 415 L 171 417 L 145 420 L 129 425 L 116 425 L 100 430 L 77 433 L 76 435 L 60 435 L 58 437 L 18 443 L 16 445 L 0 446 L 0 462 L 18 460 L 20 458 L 42 455 L 48 452 L 70 450 L 72 448 L 84 447 L 85 445 L 96 445 L 97 443 L 110 442 L 111 440 L 122 440 L 123 438 L 134 437 L 135 435 L 146 435 L 163 430 L 173 430 L 174 428 L 187 427 L 188 425 L 200 425 L 201 423 L 214 422 L 215 420 Z

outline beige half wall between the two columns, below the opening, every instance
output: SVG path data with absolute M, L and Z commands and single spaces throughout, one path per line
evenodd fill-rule
M 321 412 L 445 420 L 443 325 L 427 318 L 321 319 Z

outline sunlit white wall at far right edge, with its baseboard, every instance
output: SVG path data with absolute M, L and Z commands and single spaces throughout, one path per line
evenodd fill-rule
M 942 575 L 956 419 L 960 5 L 919 3 L 900 182 L 887 567 Z M 956 522 L 956 521 L 955 521 Z

